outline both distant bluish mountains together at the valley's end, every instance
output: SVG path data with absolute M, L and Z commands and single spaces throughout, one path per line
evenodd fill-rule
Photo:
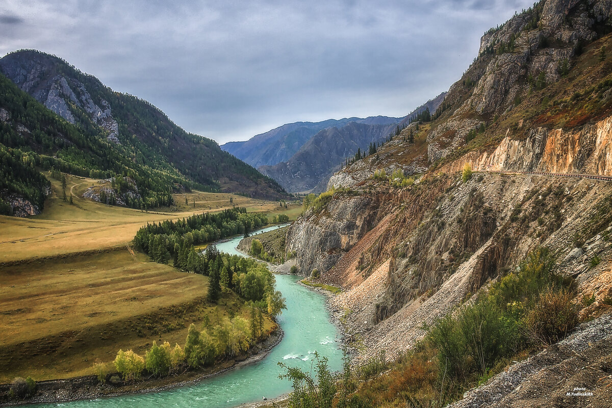
M 405 117 L 349 117 L 323 122 L 295 122 L 253 136 L 247 141 L 223 144 L 222 149 L 277 180 L 289 192 L 322 191 L 329 177 L 357 149 L 379 143 L 395 128 L 424 110 L 435 112 L 446 92 Z

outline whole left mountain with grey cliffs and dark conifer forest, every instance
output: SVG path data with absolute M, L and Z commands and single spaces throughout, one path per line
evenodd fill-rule
M 0 59 L 0 72 L 0 142 L 27 152 L 36 166 L 130 178 L 140 196 L 129 204 L 135 207 L 168 205 L 171 191 L 191 187 L 285 196 L 277 182 L 215 141 L 185 132 L 150 103 L 115 92 L 58 57 L 17 51 Z M 3 187 L 3 195 L 18 193 L 15 186 Z

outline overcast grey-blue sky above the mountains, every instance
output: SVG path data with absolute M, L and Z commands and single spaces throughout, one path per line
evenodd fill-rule
M 405 116 L 532 2 L 2 0 L 0 54 L 55 54 L 222 144 L 289 122 Z

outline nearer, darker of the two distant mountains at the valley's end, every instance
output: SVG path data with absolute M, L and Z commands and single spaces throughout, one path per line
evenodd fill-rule
M 360 150 L 365 153 L 370 143 L 379 144 L 397 127 L 405 127 L 417 113 L 434 112 L 444 100 L 446 92 L 414 109 L 403 119 L 391 124 L 381 117 L 370 117 L 362 121 L 349 121 L 329 127 L 316 133 L 289 160 L 274 166 L 260 166 L 259 171 L 277 180 L 287 191 L 312 190 L 317 193 L 326 190 L 327 180 L 340 169 L 346 158 L 352 158 Z M 395 119 L 395 118 L 388 118 Z M 383 122 L 383 123 L 381 123 Z

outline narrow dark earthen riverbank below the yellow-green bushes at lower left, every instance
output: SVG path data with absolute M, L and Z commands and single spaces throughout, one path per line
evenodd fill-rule
M 126 383 L 121 381 L 117 384 L 111 384 L 108 380 L 106 384 L 101 384 L 97 376 L 40 381 L 37 382 L 35 394 L 31 398 L 19 401 L 3 399 L 0 400 L 0 406 L 18 406 L 45 402 L 61 403 L 82 399 L 110 398 L 127 394 L 157 393 L 188 384 L 196 384 L 204 379 L 223 374 L 230 369 L 241 368 L 261 361 L 280 343 L 284 335 L 285 333 L 282 328 L 278 326 L 266 339 L 250 347 L 248 352 L 239 355 L 233 360 L 225 360 L 219 365 L 204 371 L 185 371 L 174 376 L 163 378 L 149 377 L 138 382 Z M 106 377 L 110 377 L 110 374 Z M 0 384 L 0 395 L 8 395 L 9 389 L 10 384 Z

